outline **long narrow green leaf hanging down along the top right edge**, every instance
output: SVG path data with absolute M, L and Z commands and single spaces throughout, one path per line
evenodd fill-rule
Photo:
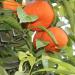
M 75 33 L 75 15 L 74 15 L 74 9 L 72 9 L 71 5 L 70 5 L 70 2 L 69 0 L 62 0 L 62 3 L 65 7 L 65 10 L 67 12 L 67 15 L 68 15 L 68 20 L 70 22 L 70 26 L 71 26 L 71 30 L 73 33 Z M 72 4 L 75 3 L 75 2 L 72 2 Z M 74 4 L 75 5 L 75 4 Z

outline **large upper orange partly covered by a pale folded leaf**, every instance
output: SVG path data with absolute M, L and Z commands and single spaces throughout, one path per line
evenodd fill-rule
M 29 15 L 38 16 L 38 20 L 28 25 L 28 28 L 33 31 L 40 31 L 38 26 L 42 25 L 48 28 L 54 19 L 54 12 L 52 6 L 46 1 L 34 1 L 26 5 L 24 11 Z

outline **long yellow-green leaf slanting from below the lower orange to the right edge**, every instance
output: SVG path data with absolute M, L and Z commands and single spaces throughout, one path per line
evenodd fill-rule
M 49 61 L 54 62 L 54 63 L 62 66 L 63 68 L 66 68 L 66 70 L 68 70 L 68 71 L 70 70 L 71 73 L 75 74 L 75 67 L 72 66 L 69 63 L 63 62 L 63 61 L 61 61 L 59 59 L 56 59 L 56 58 L 53 58 L 53 57 L 49 57 L 49 56 L 44 56 L 44 59 L 48 59 Z

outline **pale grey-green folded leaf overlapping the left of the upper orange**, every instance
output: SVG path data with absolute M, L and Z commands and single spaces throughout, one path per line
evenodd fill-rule
M 20 23 L 26 22 L 34 22 L 38 19 L 35 15 L 27 15 L 21 7 L 17 8 L 18 18 L 20 19 Z

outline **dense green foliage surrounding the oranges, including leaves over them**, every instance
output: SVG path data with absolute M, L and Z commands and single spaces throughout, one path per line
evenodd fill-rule
M 69 21 L 70 27 L 65 27 L 68 45 L 60 52 L 47 53 L 43 47 L 48 42 L 37 40 L 39 50 L 36 51 L 32 44 L 33 32 L 23 29 L 22 23 L 34 22 L 38 17 L 24 14 L 21 7 L 17 9 L 18 17 L 13 11 L 0 8 L 0 75 L 75 75 L 75 0 L 51 2 L 57 2 L 53 7 L 56 17 L 52 25 L 62 27 L 62 17 Z M 44 27 L 40 28 L 48 32 L 57 43 L 51 32 Z

